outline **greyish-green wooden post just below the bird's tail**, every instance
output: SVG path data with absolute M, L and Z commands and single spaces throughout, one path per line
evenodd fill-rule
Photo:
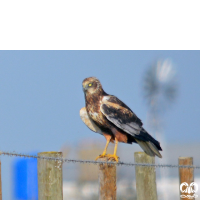
M 135 152 L 135 163 L 155 164 L 155 157 Z M 135 166 L 137 200 L 157 200 L 156 170 L 150 166 Z

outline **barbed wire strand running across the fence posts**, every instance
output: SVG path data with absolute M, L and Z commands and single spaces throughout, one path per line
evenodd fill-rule
M 200 166 L 197 165 L 172 165 L 172 164 L 149 164 L 149 163 L 125 163 L 125 162 L 112 162 L 112 161 L 93 161 L 93 160 L 81 160 L 81 159 L 67 159 L 67 158 L 53 158 L 53 157 L 44 157 L 44 156 L 35 156 L 23 153 L 0 151 L 0 155 L 3 156 L 14 156 L 22 158 L 34 158 L 34 159 L 45 159 L 45 160 L 55 160 L 61 161 L 62 163 L 80 163 L 80 164 L 108 164 L 108 165 L 117 165 L 117 166 L 143 166 L 143 167 L 170 167 L 170 168 L 193 168 L 200 169 Z

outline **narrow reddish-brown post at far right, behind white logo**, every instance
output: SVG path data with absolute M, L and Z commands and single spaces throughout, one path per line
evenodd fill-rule
M 179 157 L 178 160 L 179 160 L 179 165 L 193 165 L 192 157 Z M 190 186 L 190 184 L 192 182 L 194 182 L 194 168 L 179 168 L 179 183 L 180 183 L 179 185 L 181 187 L 181 188 L 179 187 L 179 190 L 180 190 L 180 199 L 181 200 L 185 198 L 184 196 L 187 196 L 187 195 L 193 196 L 193 193 L 182 192 L 182 191 L 186 190 L 186 188 L 187 188 L 187 185 L 181 186 L 181 184 L 184 182 L 186 182 L 188 184 L 188 186 Z M 182 189 L 182 191 L 181 191 L 181 189 Z M 190 198 L 190 199 L 194 200 L 195 198 Z

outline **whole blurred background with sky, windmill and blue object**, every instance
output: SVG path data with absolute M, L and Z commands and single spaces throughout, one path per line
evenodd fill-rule
M 200 165 L 200 51 L 0 51 L 0 151 L 62 151 L 94 160 L 106 140 L 79 117 L 82 81 L 90 76 L 161 142 L 157 164 L 192 156 Z M 110 144 L 108 152 L 113 149 Z M 134 162 L 135 151 L 141 151 L 137 144 L 120 143 L 120 160 Z M 1 165 L 3 199 L 37 199 L 37 162 L 1 156 Z M 118 167 L 117 174 L 118 199 L 133 199 L 134 167 Z M 97 199 L 97 180 L 98 166 L 65 163 L 64 198 Z M 195 182 L 200 186 L 199 170 Z M 157 168 L 157 185 L 159 199 L 178 198 L 178 169 Z

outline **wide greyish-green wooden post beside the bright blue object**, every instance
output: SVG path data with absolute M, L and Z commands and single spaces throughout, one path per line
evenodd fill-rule
M 41 152 L 38 156 L 62 158 L 62 152 Z M 38 200 L 63 200 L 62 161 L 38 159 Z

